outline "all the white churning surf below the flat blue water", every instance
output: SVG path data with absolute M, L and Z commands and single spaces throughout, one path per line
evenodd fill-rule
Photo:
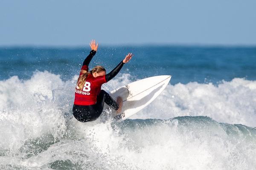
M 47 71 L 0 81 L 0 167 L 48 169 L 56 161 L 82 169 L 251 170 L 256 167 L 256 81 L 168 85 L 131 120 L 81 123 L 70 119 L 77 76 Z M 107 91 L 131 82 L 122 74 Z M 44 147 L 42 147 L 44 146 Z M 69 161 L 67 161 L 69 160 Z M 65 162 L 66 161 L 66 162 Z M 61 162 L 58 162 L 61 164 Z M 15 168 L 14 168 L 15 169 Z

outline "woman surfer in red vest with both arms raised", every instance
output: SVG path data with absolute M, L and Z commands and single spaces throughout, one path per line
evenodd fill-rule
M 118 74 L 122 66 L 130 61 L 133 54 L 128 53 L 110 73 L 106 74 L 104 67 L 97 65 L 89 71 L 89 63 L 98 49 L 95 40 L 90 42 L 90 54 L 84 59 L 79 78 L 76 83 L 75 101 L 73 105 L 73 116 L 80 122 L 96 120 L 102 113 L 104 102 L 113 107 L 116 113 L 121 113 L 122 97 L 118 96 L 116 101 L 104 90 L 102 84 L 110 81 Z

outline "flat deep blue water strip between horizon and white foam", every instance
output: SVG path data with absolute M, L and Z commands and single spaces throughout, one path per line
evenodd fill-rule
M 0 48 L 0 79 L 16 75 L 28 79 L 35 70 L 47 70 L 67 80 L 78 74 L 89 51 L 88 48 Z M 256 79 L 256 47 L 101 47 L 91 67 L 103 65 L 111 71 L 128 52 L 132 52 L 134 58 L 121 73 L 139 79 L 172 75 L 172 84 L 216 83 L 238 77 Z

